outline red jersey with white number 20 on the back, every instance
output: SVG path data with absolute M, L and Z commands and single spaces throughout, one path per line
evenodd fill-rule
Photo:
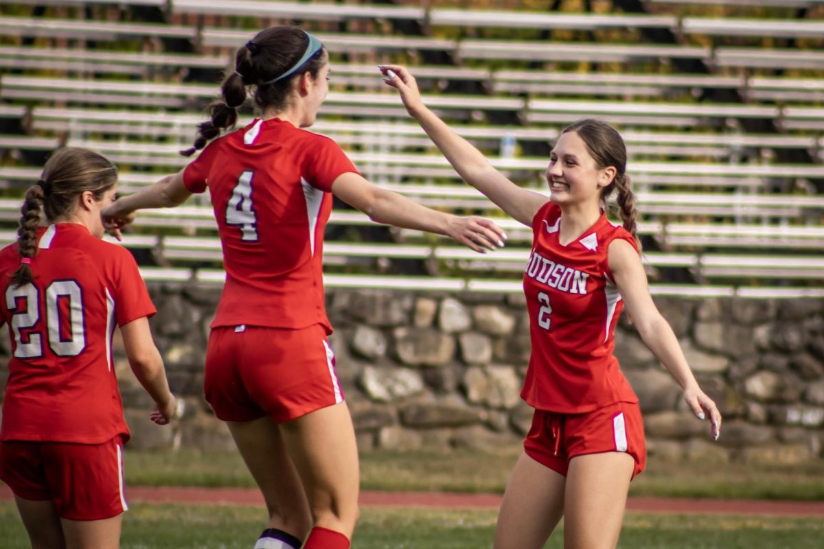
M 12 341 L 0 440 L 127 440 L 111 337 L 115 323 L 155 313 L 132 254 L 59 223 L 40 231 L 34 283 L 11 284 L 19 266 L 17 244 L 0 250 L 0 319 Z

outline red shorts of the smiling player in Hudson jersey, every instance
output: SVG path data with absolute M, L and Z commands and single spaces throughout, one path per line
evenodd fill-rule
M 564 477 L 569 460 L 576 456 L 625 452 L 635 460 L 635 477 L 647 463 L 641 407 L 637 402 L 616 402 L 584 414 L 536 410 L 523 449 Z

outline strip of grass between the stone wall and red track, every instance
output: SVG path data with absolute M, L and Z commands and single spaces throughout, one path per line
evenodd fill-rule
M 364 452 L 363 490 L 502 493 L 519 449 L 497 454 L 452 452 Z M 235 452 L 194 450 L 128 451 L 126 480 L 133 486 L 254 487 Z M 801 465 L 672 463 L 650 458 L 630 495 L 824 500 L 824 460 Z

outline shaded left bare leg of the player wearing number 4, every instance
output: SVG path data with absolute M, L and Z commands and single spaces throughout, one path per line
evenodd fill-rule
M 227 422 L 246 467 L 263 492 L 269 527 L 298 539 L 311 528 L 309 502 L 297 469 L 283 444 L 279 426 L 269 417 L 243 423 Z

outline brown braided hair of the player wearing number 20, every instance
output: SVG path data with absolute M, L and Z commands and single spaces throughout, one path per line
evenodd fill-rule
M 40 174 L 40 181 L 26 191 L 21 207 L 20 227 L 17 229 L 17 252 L 21 258 L 37 255 L 37 227 L 44 212 L 48 221 L 54 221 L 77 206 L 77 198 L 86 191 L 101 200 L 106 191 L 117 183 L 117 167 L 105 156 L 77 147 L 55 151 Z M 28 262 L 21 262 L 12 274 L 12 284 L 21 286 L 34 281 Z

